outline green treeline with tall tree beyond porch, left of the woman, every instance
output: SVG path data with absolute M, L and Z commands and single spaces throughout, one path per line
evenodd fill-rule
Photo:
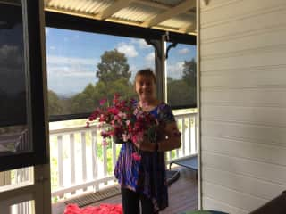
M 97 64 L 96 84 L 89 83 L 82 92 L 70 99 L 59 98 L 55 92 L 48 92 L 48 109 L 50 115 L 74 114 L 93 111 L 100 99 L 107 98 L 109 102 L 118 93 L 123 98 L 135 96 L 135 90 L 130 83 L 130 66 L 124 53 L 116 49 L 106 51 Z

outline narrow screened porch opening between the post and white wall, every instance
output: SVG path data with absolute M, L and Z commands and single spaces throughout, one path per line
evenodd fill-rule
M 166 47 L 172 45 L 167 43 Z M 166 60 L 166 97 L 173 109 L 197 106 L 196 45 L 178 44 Z

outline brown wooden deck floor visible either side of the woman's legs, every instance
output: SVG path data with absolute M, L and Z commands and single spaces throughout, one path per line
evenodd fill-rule
M 198 182 L 193 171 L 184 168 L 180 170 L 180 178 L 169 187 L 169 207 L 160 214 L 180 214 L 186 210 L 198 209 Z M 121 203 L 121 196 L 117 195 L 109 199 L 91 204 Z

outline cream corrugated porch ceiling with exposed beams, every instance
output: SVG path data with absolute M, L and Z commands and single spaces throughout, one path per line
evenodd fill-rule
M 196 34 L 196 0 L 44 0 L 45 10 Z

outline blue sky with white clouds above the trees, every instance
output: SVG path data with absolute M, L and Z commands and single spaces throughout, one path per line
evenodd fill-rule
M 47 85 L 58 95 L 75 95 L 89 83 L 97 82 L 100 56 L 117 49 L 124 53 L 132 72 L 154 70 L 154 48 L 144 39 L 117 37 L 67 29 L 46 28 Z M 195 45 L 177 45 L 167 61 L 167 76 L 181 78 L 182 64 L 196 57 Z

